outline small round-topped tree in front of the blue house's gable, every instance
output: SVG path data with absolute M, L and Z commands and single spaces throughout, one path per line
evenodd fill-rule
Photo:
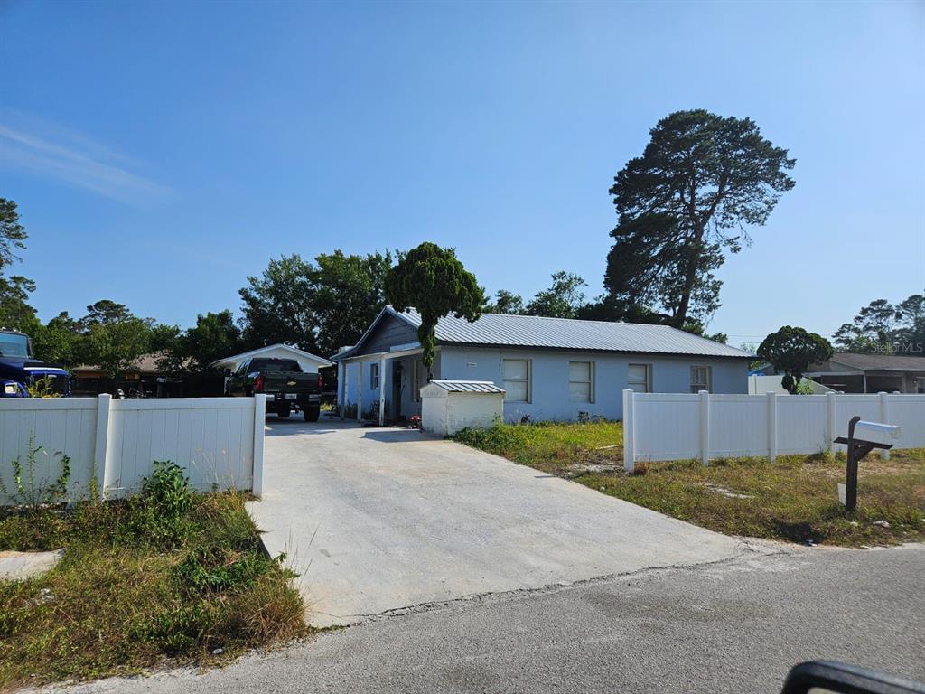
M 398 265 L 386 278 L 386 297 L 397 311 L 415 308 L 421 315 L 417 338 L 428 372 L 434 364 L 438 320 L 451 313 L 472 322 L 486 304 L 485 290 L 462 266 L 456 251 L 431 242 L 399 256 Z

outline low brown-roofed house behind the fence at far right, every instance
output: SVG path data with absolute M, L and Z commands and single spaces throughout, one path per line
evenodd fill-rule
M 925 357 L 835 353 L 806 376 L 841 392 L 925 393 Z

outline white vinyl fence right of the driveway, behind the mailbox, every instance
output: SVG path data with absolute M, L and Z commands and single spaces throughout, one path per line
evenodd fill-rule
M 623 460 L 767 456 L 844 451 L 848 420 L 902 428 L 894 448 L 925 448 L 925 395 L 713 395 L 623 390 Z M 883 452 L 884 457 L 889 455 Z

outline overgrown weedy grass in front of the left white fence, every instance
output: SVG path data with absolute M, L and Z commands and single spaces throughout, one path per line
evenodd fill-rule
M 65 548 L 45 576 L 0 581 L 0 690 L 221 663 L 304 634 L 302 598 L 244 501 L 191 493 L 162 467 L 136 500 L 0 515 L 0 550 Z

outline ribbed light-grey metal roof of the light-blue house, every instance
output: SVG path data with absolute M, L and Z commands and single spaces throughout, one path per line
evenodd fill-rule
M 421 325 L 421 316 L 416 311 L 399 313 L 387 306 L 366 330 L 363 338 L 350 350 L 336 354 L 334 360 L 349 358 L 355 353 L 376 327 L 376 323 L 386 315 L 396 316 L 413 328 Z M 437 323 L 437 341 L 440 344 L 754 359 L 742 350 L 669 326 L 507 314 L 482 314 L 473 323 L 465 318 L 445 316 Z

